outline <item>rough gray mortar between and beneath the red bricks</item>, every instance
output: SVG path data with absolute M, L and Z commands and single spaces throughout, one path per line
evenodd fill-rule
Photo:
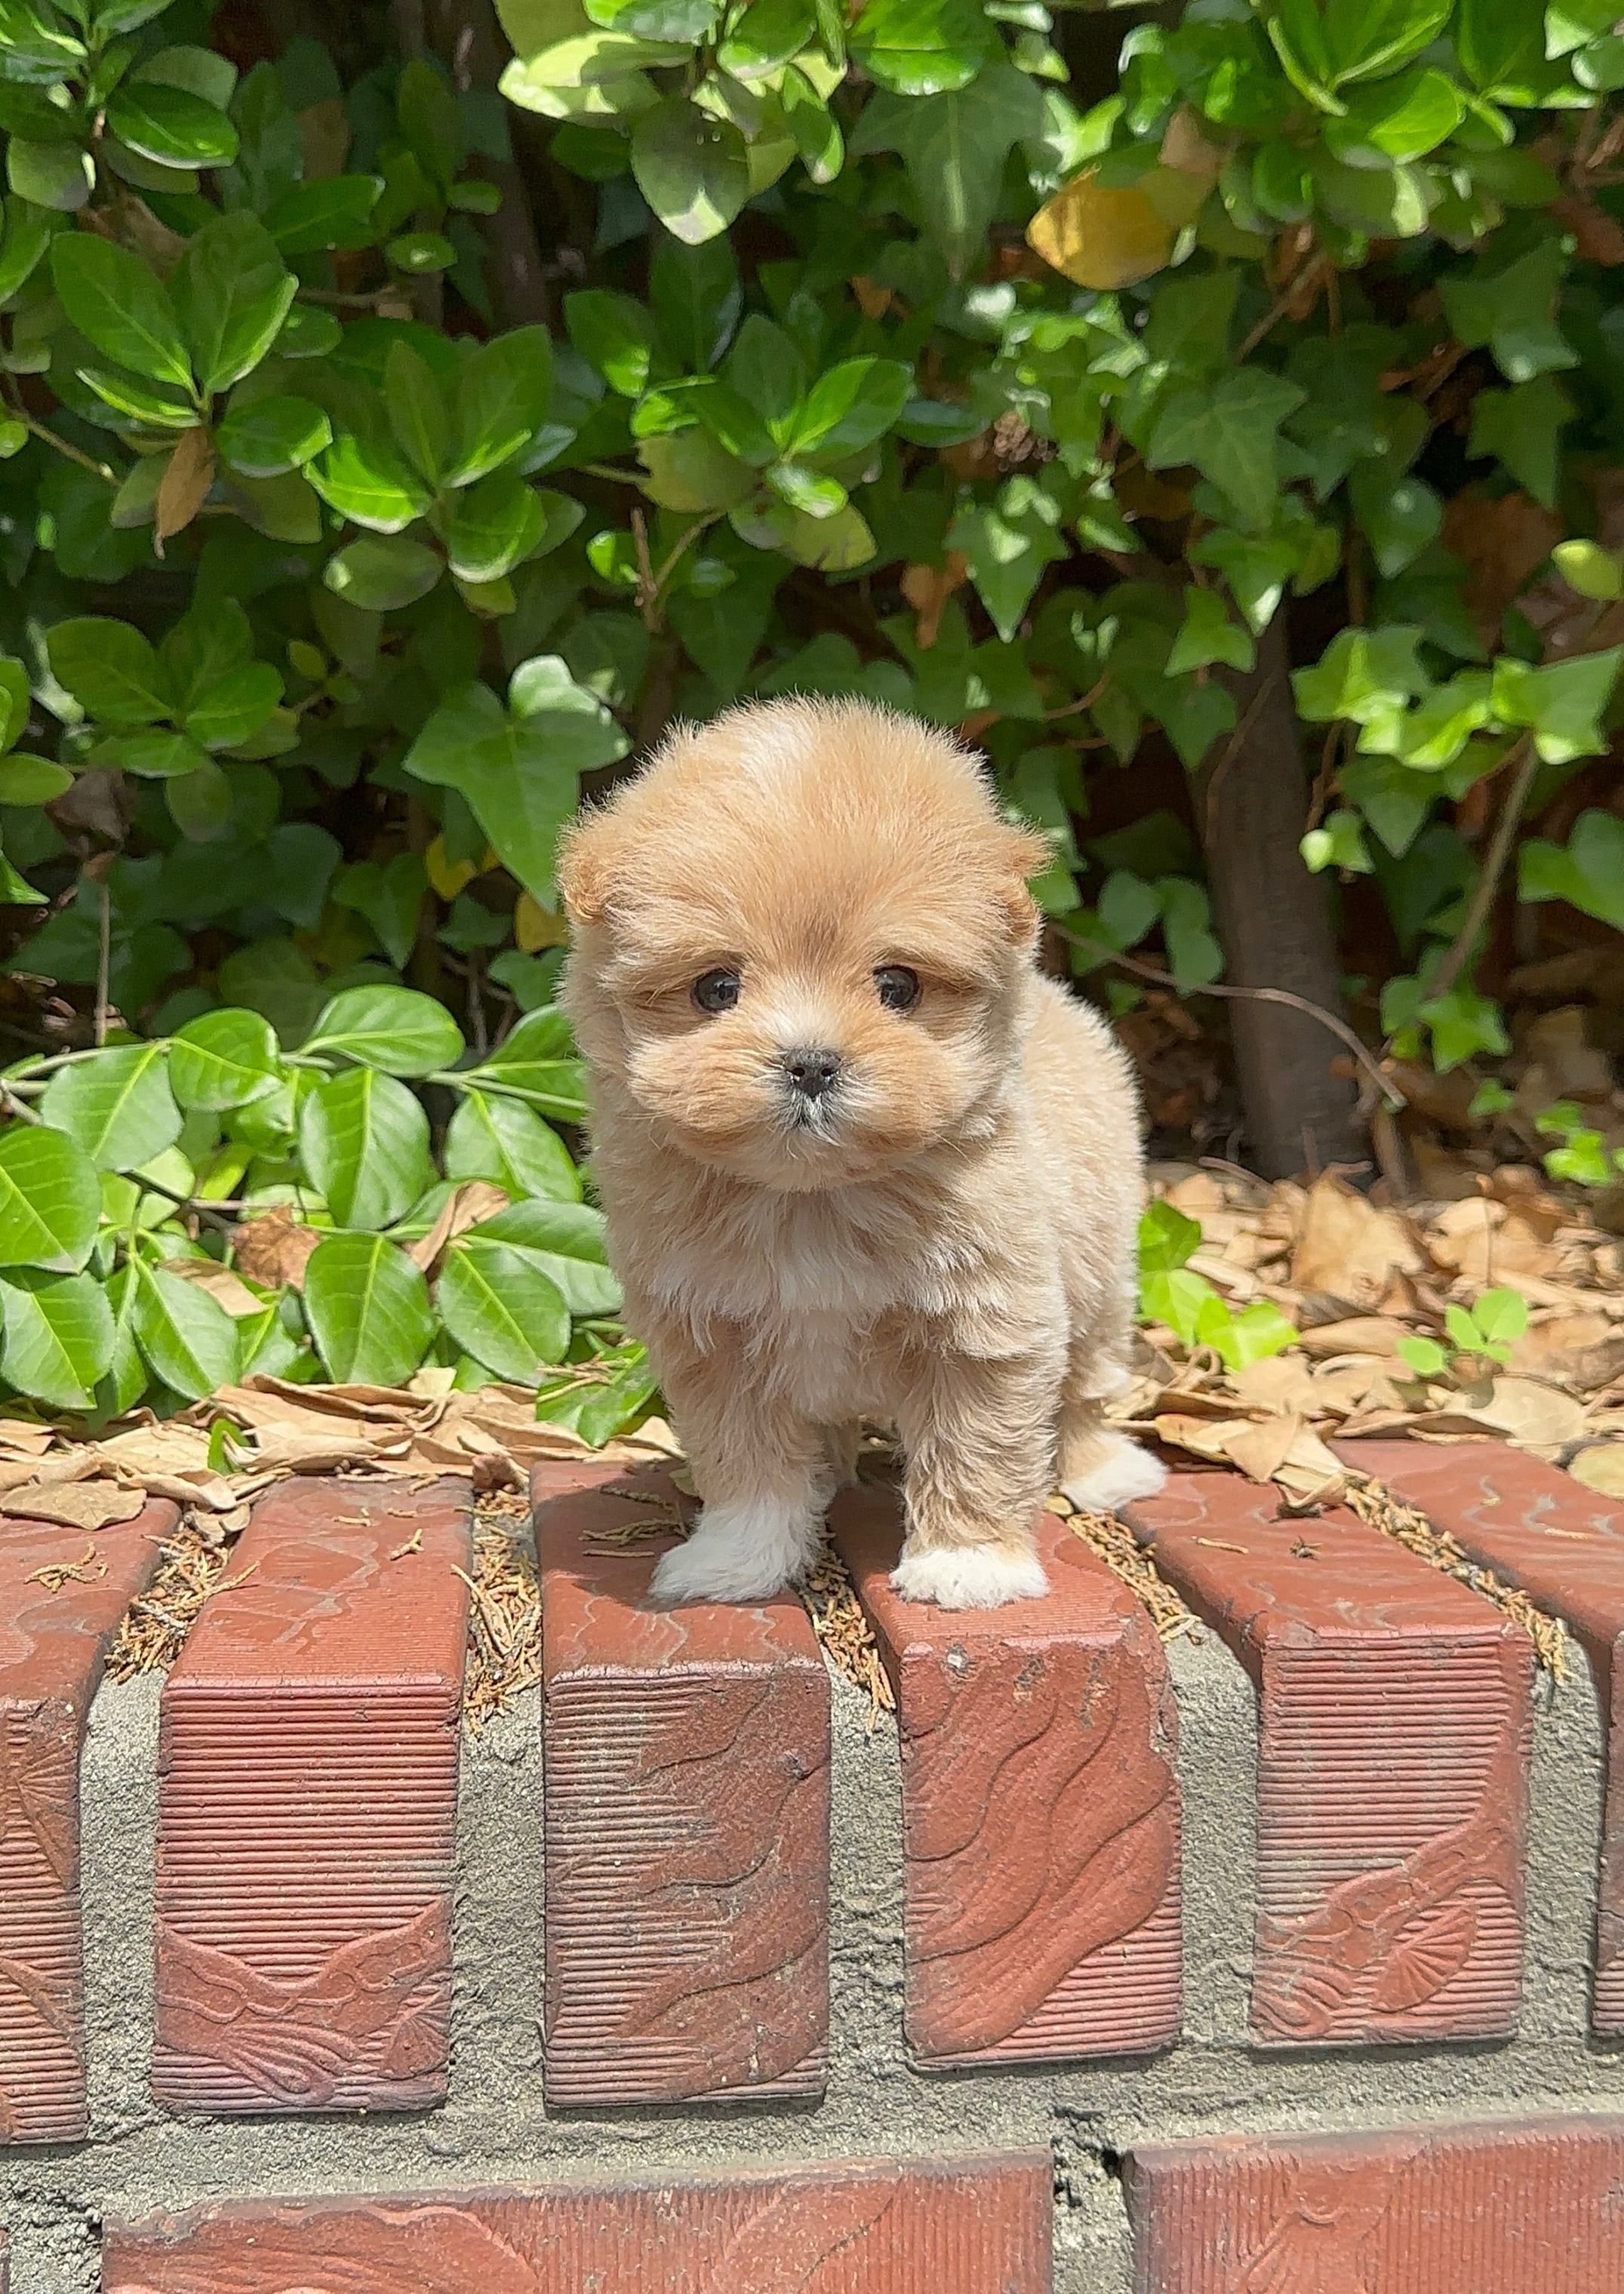
M 1184 1789 L 1186 2042 L 1151 2062 L 915 2071 L 901 2051 L 897 1730 L 833 1684 L 833 2039 L 823 2104 L 548 2115 L 541 2101 L 539 1695 L 463 1743 L 452 2081 L 445 2110 L 172 2117 L 147 2092 L 154 1682 L 103 1686 L 83 1858 L 94 2140 L 0 2152 L 11 2294 L 96 2294 L 101 2216 L 200 2200 L 454 2191 L 580 2175 L 1051 2145 L 1057 2294 L 1129 2294 L 1115 2159 L 1149 2133 L 1622 2110 L 1624 2051 L 1587 2042 L 1601 1718 L 1583 1656 L 1541 1682 L 1523 2037 L 1496 2046 L 1248 2046 L 1257 1716 L 1211 1636 L 1170 1647 Z

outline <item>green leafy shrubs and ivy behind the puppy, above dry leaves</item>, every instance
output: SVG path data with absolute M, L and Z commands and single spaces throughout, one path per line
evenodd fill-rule
M 1617 85 L 1610 0 L 0 0 L 0 1379 L 642 1409 L 553 846 L 752 693 L 984 746 L 1163 1140 L 1610 1188 Z

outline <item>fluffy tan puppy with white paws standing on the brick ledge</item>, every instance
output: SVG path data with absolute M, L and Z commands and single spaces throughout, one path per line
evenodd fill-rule
M 943 1608 L 1044 1592 L 1057 1482 L 1161 1487 L 1101 1422 L 1138 1106 L 1034 966 L 1044 863 L 975 757 L 862 702 L 681 729 L 569 837 L 560 1000 L 610 1257 L 704 1498 L 661 1599 L 801 1576 L 858 1418 L 906 1454 L 892 1583 Z

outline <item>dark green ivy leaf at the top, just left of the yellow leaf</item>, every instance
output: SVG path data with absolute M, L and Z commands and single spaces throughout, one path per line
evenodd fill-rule
M 899 151 L 920 223 L 954 278 L 975 264 L 998 209 L 1009 147 L 1044 131 L 1044 89 L 1007 60 L 950 94 L 869 96 L 853 154 Z

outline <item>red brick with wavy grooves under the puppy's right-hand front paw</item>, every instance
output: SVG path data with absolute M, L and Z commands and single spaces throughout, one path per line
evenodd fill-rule
M 892 1592 L 892 1491 L 842 1491 L 833 1521 L 897 1691 L 908 2044 L 943 2062 L 1170 2046 L 1179 1723 L 1149 1617 L 1053 1514 L 1051 1592 L 996 1610 Z

